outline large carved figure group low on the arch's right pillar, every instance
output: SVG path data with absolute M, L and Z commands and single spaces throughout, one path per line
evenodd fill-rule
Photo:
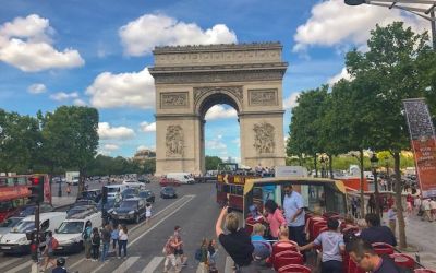
M 271 154 L 275 151 L 274 126 L 267 122 L 254 124 L 254 147 L 258 154 Z

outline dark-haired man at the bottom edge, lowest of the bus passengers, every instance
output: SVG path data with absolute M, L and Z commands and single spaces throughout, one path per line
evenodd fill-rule
M 356 238 L 346 246 L 351 260 L 365 272 L 400 273 L 403 272 L 388 256 L 379 257 L 370 242 Z

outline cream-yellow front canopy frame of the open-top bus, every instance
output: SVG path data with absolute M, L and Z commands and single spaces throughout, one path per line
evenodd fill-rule
M 346 186 L 341 180 L 328 178 L 313 178 L 313 177 L 266 177 L 266 178 L 251 178 L 245 180 L 244 195 L 249 193 L 254 185 L 268 185 L 268 183 L 293 183 L 293 185 L 332 185 L 340 192 L 347 193 Z

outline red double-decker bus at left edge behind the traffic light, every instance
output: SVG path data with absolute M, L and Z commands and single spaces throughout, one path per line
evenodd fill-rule
M 31 197 L 29 177 L 35 175 L 0 176 L 0 223 L 28 203 Z M 50 181 L 44 176 L 44 202 L 51 204 Z

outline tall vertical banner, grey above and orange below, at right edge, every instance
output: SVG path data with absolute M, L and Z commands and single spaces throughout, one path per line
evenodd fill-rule
M 436 197 L 436 138 L 424 98 L 403 99 L 423 198 Z

